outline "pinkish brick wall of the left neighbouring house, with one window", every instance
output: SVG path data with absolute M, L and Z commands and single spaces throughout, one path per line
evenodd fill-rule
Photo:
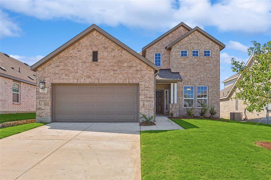
M 12 79 L 0 77 L 0 111 L 12 111 L 12 113 L 29 112 L 36 110 L 36 91 L 35 85 L 30 85 L 24 82 L 20 83 L 20 103 L 12 102 Z

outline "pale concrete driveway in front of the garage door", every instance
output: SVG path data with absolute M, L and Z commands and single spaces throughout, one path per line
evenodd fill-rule
M 0 179 L 141 179 L 138 123 L 51 123 L 0 140 Z

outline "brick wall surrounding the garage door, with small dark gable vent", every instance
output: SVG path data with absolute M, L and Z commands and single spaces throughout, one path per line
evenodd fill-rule
M 92 51 L 98 62 L 92 62 Z M 99 32 L 77 41 L 37 69 L 37 117 L 51 117 L 51 83 L 138 83 L 140 112 L 154 114 L 154 70 Z

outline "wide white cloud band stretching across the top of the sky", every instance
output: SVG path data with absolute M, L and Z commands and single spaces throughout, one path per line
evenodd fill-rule
M 5 9 L 38 19 L 165 31 L 180 22 L 192 28 L 270 33 L 270 1 L 1 1 Z M 176 8 L 179 7 L 179 8 Z

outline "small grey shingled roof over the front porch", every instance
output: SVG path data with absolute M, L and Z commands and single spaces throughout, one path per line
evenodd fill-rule
M 182 81 L 182 77 L 179 72 L 172 72 L 170 69 L 160 69 L 156 75 L 158 81 Z

